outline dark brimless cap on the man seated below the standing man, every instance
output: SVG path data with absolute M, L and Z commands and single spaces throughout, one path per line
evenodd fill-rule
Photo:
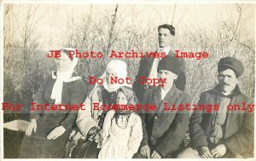
M 166 55 L 166 58 L 163 58 L 159 61 L 157 72 L 159 72 L 160 70 L 167 70 L 179 75 L 180 72 L 184 71 L 184 68 L 185 61 L 183 59 L 175 58 L 172 55 Z

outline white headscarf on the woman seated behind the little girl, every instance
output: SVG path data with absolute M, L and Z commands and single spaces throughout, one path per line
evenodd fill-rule
M 115 92 L 117 89 L 119 89 L 119 87 L 124 86 L 124 85 L 131 87 L 131 84 L 128 84 L 126 82 L 112 83 L 111 85 L 108 85 L 108 83 L 106 81 L 106 72 L 108 69 L 112 69 L 114 72 L 116 72 L 117 78 L 125 79 L 127 77 L 127 65 L 126 65 L 125 61 L 123 61 L 123 60 L 110 60 L 108 62 L 106 71 L 102 74 L 102 77 L 101 77 L 103 79 L 103 86 L 106 90 L 108 90 L 108 92 Z M 98 84 L 96 84 L 96 87 L 97 86 L 98 86 Z

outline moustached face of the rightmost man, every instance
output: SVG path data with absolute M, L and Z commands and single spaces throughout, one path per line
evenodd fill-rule
M 236 88 L 237 84 L 235 72 L 231 69 L 226 69 L 223 72 L 219 72 L 218 82 L 223 93 L 232 93 L 232 91 Z

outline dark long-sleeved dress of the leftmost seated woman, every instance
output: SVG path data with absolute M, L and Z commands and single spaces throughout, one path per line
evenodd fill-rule
M 41 83 L 34 97 L 34 103 L 49 105 L 54 103 L 50 99 L 55 80 L 49 76 Z M 78 105 L 84 102 L 84 82 L 79 79 L 70 83 L 63 83 L 61 104 Z M 37 119 L 37 131 L 32 135 L 25 135 L 20 147 L 19 158 L 62 158 L 68 136 L 73 129 L 77 117 L 76 111 L 31 111 L 31 119 Z M 55 140 L 48 140 L 47 135 L 58 126 L 66 131 Z

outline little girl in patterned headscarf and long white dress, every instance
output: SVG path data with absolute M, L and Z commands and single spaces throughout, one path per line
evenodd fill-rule
M 117 90 L 117 105 L 129 106 L 135 102 L 131 87 Z M 131 110 L 109 111 L 102 129 L 102 150 L 98 158 L 132 158 L 143 140 L 142 120 Z

